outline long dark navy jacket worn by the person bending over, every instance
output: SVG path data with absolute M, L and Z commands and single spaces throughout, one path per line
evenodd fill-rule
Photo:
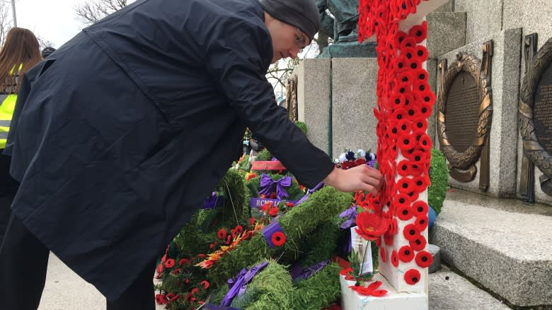
M 202 204 L 246 126 L 306 186 L 333 169 L 275 104 L 263 18 L 257 0 L 136 1 L 23 79 L 13 212 L 108 299 Z

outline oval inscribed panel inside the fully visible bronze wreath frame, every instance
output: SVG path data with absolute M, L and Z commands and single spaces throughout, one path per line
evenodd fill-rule
M 479 124 L 479 104 L 476 79 L 466 71 L 459 72 L 449 88 L 444 112 L 449 143 L 456 152 L 463 153 L 473 143 Z

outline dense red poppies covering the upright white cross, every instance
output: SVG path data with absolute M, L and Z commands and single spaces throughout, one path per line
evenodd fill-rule
M 415 260 L 418 267 L 427 268 L 432 263 L 423 236 L 428 223 L 427 203 L 418 200 L 430 185 L 427 172 L 432 142 L 426 129 L 435 102 L 435 94 L 427 83 L 427 71 L 422 66 L 428 56 L 426 47 L 420 44 L 427 37 L 427 23 L 415 25 L 408 32 L 399 29 L 399 22 L 415 13 L 418 4 L 420 0 L 360 0 L 359 40 L 375 34 L 377 42 L 376 155 L 386 186 L 379 196 L 357 194 L 355 198 L 360 206 L 370 210 L 364 217 L 362 213 L 357 217 L 359 233 L 381 232 L 374 223 L 387 225 L 381 236 L 370 236 L 377 237 L 377 246 L 381 242 L 392 246 L 396 234 L 401 233 L 398 227 L 404 226 L 402 234 L 408 244 L 398 251 L 393 249 L 390 256 L 380 246 L 381 261 L 385 263 L 389 258 L 398 267 L 400 262 Z M 374 216 L 381 217 L 381 221 Z M 398 225 L 397 220 L 403 221 L 403 225 Z M 411 268 L 404 273 L 404 280 L 415 285 L 420 276 L 419 270 Z

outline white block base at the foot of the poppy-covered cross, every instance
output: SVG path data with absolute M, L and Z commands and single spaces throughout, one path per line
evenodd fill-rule
M 427 310 L 429 309 L 429 300 L 426 293 L 405 293 L 397 292 L 383 275 L 376 273 L 373 280 L 379 280 L 383 284 L 378 290 L 387 290 L 383 297 L 362 296 L 350 289 L 350 285 L 355 285 L 355 281 L 345 280 L 344 275 L 340 275 L 341 286 L 341 309 L 342 310 L 389 310 L 389 309 L 409 309 L 409 310 Z

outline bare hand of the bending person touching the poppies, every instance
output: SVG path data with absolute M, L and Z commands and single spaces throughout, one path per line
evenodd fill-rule
M 376 195 L 384 184 L 384 177 L 378 170 L 368 165 L 360 165 L 351 169 L 342 170 L 333 168 L 328 177 L 323 179 L 324 184 L 333 186 L 338 191 L 369 191 Z

